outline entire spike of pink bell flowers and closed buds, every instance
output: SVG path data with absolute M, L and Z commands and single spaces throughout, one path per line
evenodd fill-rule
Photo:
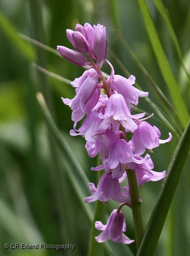
M 131 114 L 138 105 L 139 97 L 147 97 L 148 92 L 140 91 L 133 86 L 135 76 L 131 75 L 127 79 L 114 74 L 112 64 L 106 60 L 107 41 L 104 26 L 98 24 L 93 25 L 92 28 L 88 23 L 85 23 L 84 27 L 77 24 L 75 31 L 67 29 L 67 37 L 78 51 L 58 46 L 59 53 L 74 64 L 89 65 L 82 76 L 71 82 L 76 88 L 75 97 L 62 98 L 73 111 L 74 129 L 70 134 L 82 135 L 86 139 L 85 147 L 89 157 L 100 154 L 102 164 L 92 167 L 91 170 L 106 171 L 97 187 L 89 183 L 92 195 L 85 197 L 84 201 L 108 202 L 112 198 L 130 206 L 128 182 L 126 181 L 125 187 L 120 185 L 125 179 L 127 180 L 126 170 L 131 169 L 136 172 L 138 185 L 163 179 L 165 171 L 153 171 L 154 164 L 150 155 L 142 155 L 146 149 L 153 152 L 152 149 L 158 147 L 160 143 L 170 141 L 172 134 L 169 133 L 168 139 L 161 140 L 159 129 L 145 121 L 149 117 L 143 118 L 145 113 Z M 105 61 L 111 69 L 108 79 L 101 71 Z M 86 117 L 83 124 L 77 129 L 78 121 L 84 116 Z M 133 133 L 130 141 L 126 136 L 128 132 Z M 126 231 L 126 224 L 120 209 L 113 210 L 106 225 L 97 221 L 95 226 L 98 230 L 103 230 L 96 237 L 98 242 L 108 239 L 125 244 L 134 242 L 123 233 Z

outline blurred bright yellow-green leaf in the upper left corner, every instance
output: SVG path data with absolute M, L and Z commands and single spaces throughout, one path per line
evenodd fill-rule
M 30 61 L 34 61 L 35 59 L 35 52 L 30 44 L 24 42 L 14 26 L 8 21 L 7 18 L 0 12 L 0 29 L 5 33 L 8 39 L 13 44 L 14 48 L 17 48 L 20 53 L 25 56 Z

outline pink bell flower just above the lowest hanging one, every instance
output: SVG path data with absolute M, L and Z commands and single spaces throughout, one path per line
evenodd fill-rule
M 118 179 L 113 179 L 110 173 L 105 173 L 102 175 L 98 187 L 93 183 L 89 183 L 90 192 L 93 194 L 89 197 L 85 197 L 85 203 L 100 200 L 103 202 L 108 202 L 110 198 L 116 202 L 126 202 L 130 198 L 130 193 L 128 188 L 121 188 Z

